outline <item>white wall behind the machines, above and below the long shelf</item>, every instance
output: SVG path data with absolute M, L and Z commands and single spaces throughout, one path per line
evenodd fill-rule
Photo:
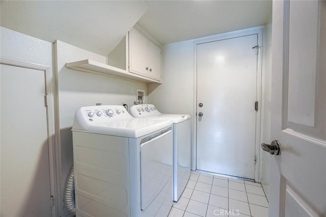
M 62 161 L 61 184 L 64 187 L 70 167 L 73 164 L 71 128 L 75 110 L 96 103 L 121 105 L 122 102 L 130 108 L 135 101 L 137 88 L 144 89 L 145 95 L 147 95 L 147 84 L 67 69 L 66 63 L 83 59 L 92 59 L 105 64 L 105 56 L 61 41 L 57 41 L 56 50 Z M 145 96 L 146 101 L 147 97 Z M 61 191 L 63 196 L 64 189 L 62 188 Z M 62 216 L 67 216 L 67 214 L 67 210 L 63 207 Z

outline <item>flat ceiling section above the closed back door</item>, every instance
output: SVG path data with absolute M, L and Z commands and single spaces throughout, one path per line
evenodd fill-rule
M 271 1 L 146 1 L 138 24 L 161 44 L 271 22 Z

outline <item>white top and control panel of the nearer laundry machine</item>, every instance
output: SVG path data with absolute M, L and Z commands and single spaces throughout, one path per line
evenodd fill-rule
M 134 118 L 123 106 L 88 106 L 76 111 L 72 131 L 138 138 L 171 125 L 169 120 Z

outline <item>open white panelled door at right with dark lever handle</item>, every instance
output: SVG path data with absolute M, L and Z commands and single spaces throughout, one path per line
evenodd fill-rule
M 269 216 L 326 214 L 326 2 L 274 1 Z

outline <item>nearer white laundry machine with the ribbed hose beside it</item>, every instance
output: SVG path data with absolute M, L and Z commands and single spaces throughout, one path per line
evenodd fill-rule
M 169 120 L 89 106 L 73 128 L 76 216 L 168 216 L 173 132 Z

